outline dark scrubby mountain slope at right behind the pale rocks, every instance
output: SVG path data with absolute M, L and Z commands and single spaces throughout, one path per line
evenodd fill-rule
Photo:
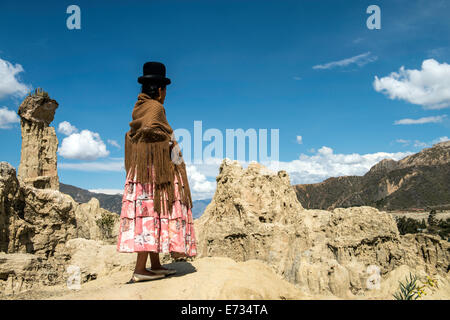
M 308 209 L 450 209 L 450 141 L 400 161 L 382 160 L 364 176 L 329 178 L 294 188 Z

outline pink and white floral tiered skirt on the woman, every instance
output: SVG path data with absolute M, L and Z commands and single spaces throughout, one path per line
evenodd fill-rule
M 175 177 L 175 184 L 179 182 Z M 172 212 L 153 209 L 153 184 L 136 182 L 127 176 L 120 214 L 119 252 L 179 252 L 197 254 L 192 211 L 181 203 L 175 186 Z M 165 200 L 167 201 L 167 200 Z

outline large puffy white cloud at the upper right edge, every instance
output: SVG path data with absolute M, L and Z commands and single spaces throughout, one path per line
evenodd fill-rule
M 421 70 L 401 67 L 399 72 L 378 78 L 373 86 L 390 99 L 405 100 L 425 109 L 442 109 L 450 106 L 450 65 L 434 59 L 424 60 Z

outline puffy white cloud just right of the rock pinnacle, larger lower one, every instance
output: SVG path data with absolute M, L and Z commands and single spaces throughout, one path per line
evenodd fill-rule
M 98 133 L 83 130 L 64 138 L 58 154 L 67 159 L 95 160 L 107 157 L 109 151 Z

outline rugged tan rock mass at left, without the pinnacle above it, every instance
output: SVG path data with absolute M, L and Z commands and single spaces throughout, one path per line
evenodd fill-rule
M 79 237 L 99 247 L 113 242 L 118 220 L 96 199 L 80 205 L 57 190 L 21 184 L 14 167 L 0 162 L 0 292 L 17 294 L 63 282 L 75 254 L 67 243 Z M 111 248 L 108 252 L 112 257 Z

